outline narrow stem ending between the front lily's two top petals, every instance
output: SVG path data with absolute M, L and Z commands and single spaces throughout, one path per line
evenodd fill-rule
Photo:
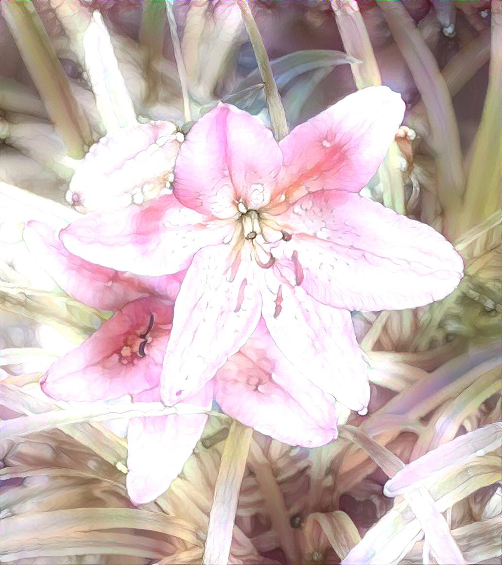
M 262 36 L 259 33 L 258 26 L 253 17 L 253 12 L 249 7 L 248 0 L 236 0 L 243 16 L 244 26 L 248 32 L 251 45 L 253 46 L 254 56 L 258 63 L 259 72 L 265 84 L 265 99 L 267 101 L 268 113 L 276 140 L 281 140 L 289 133 L 288 122 L 284 112 L 284 106 L 281 101 L 279 90 L 272 73 L 270 60 L 268 60 L 265 45 L 263 45 Z

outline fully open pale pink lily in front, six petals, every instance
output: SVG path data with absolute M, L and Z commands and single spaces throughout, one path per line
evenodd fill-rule
M 371 87 L 278 144 L 258 119 L 221 104 L 187 134 L 173 194 L 61 232 L 72 253 L 107 267 L 143 276 L 188 269 L 164 360 L 166 404 L 201 390 L 263 318 L 306 379 L 366 411 L 348 310 L 425 305 L 463 271 L 441 234 L 357 194 L 403 113 L 398 94 Z

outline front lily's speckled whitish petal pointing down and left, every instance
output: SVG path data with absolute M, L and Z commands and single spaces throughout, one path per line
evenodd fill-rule
M 161 394 L 166 404 L 200 390 L 258 324 L 261 297 L 249 247 L 241 252 L 238 268 L 235 263 L 230 267 L 231 253 L 227 245 L 205 247 L 188 268 L 164 361 Z

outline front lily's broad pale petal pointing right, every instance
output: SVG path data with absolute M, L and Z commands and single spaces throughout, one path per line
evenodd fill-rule
M 357 194 L 309 194 L 276 218 L 297 234 L 302 288 L 349 310 L 413 308 L 444 298 L 459 284 L 463 262 L 440 233 Z

